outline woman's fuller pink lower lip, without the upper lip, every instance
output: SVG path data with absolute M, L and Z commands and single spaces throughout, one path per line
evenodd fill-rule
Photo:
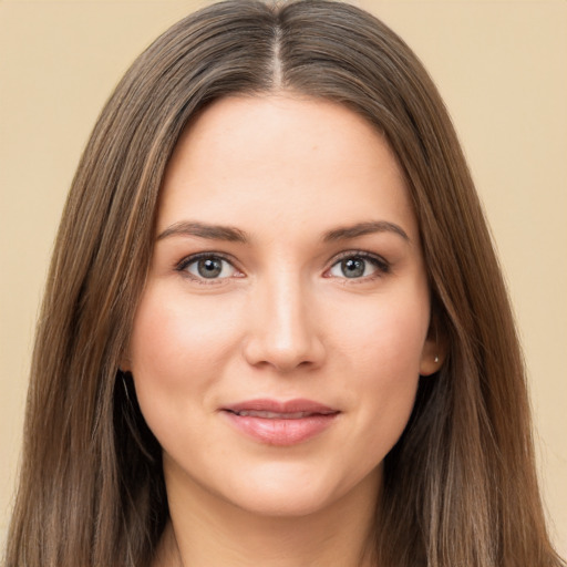
M 338 413 L 315 414 L 296 420 L 241 416 L 224 412 L 241 433 L 268 445 L 289 446 L 303 443 L 330 427 Z

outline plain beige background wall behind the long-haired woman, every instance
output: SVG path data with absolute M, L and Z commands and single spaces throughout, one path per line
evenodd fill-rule
M 0 0 L 0 545 L 34 319 L 79 155 L 133 58 L 204 3 Z M 567 555 L 567 2 L 358 3 L 419 53 L 463 141 L 516 308 L 544 495 Z

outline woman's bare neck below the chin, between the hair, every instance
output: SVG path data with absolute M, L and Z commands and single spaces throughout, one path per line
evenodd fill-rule
M 258 515 L 219 505 L 205 489 L 168 486 L 171 523 L 154 566 L 371 567 L 378 486 L 377 472 L 328 507 L 298 516 Z

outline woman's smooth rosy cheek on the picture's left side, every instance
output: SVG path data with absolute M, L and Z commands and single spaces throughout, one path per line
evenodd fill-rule
M 172 432 L 198 429 L 212 385 L 237 348 L 235 320 L 235 308 L 218 299 L 146 289 L 134 320 L 131 370 L 142 413 L 162 445 Z

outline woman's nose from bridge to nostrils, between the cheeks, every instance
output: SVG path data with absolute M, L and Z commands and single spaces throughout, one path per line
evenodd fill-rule
M 249 364 L 271 367 L 281 373 L 321 365 L 326 349 L 316 308 L 299 279 L 280 276 L 258 286 L 244 347 Z

